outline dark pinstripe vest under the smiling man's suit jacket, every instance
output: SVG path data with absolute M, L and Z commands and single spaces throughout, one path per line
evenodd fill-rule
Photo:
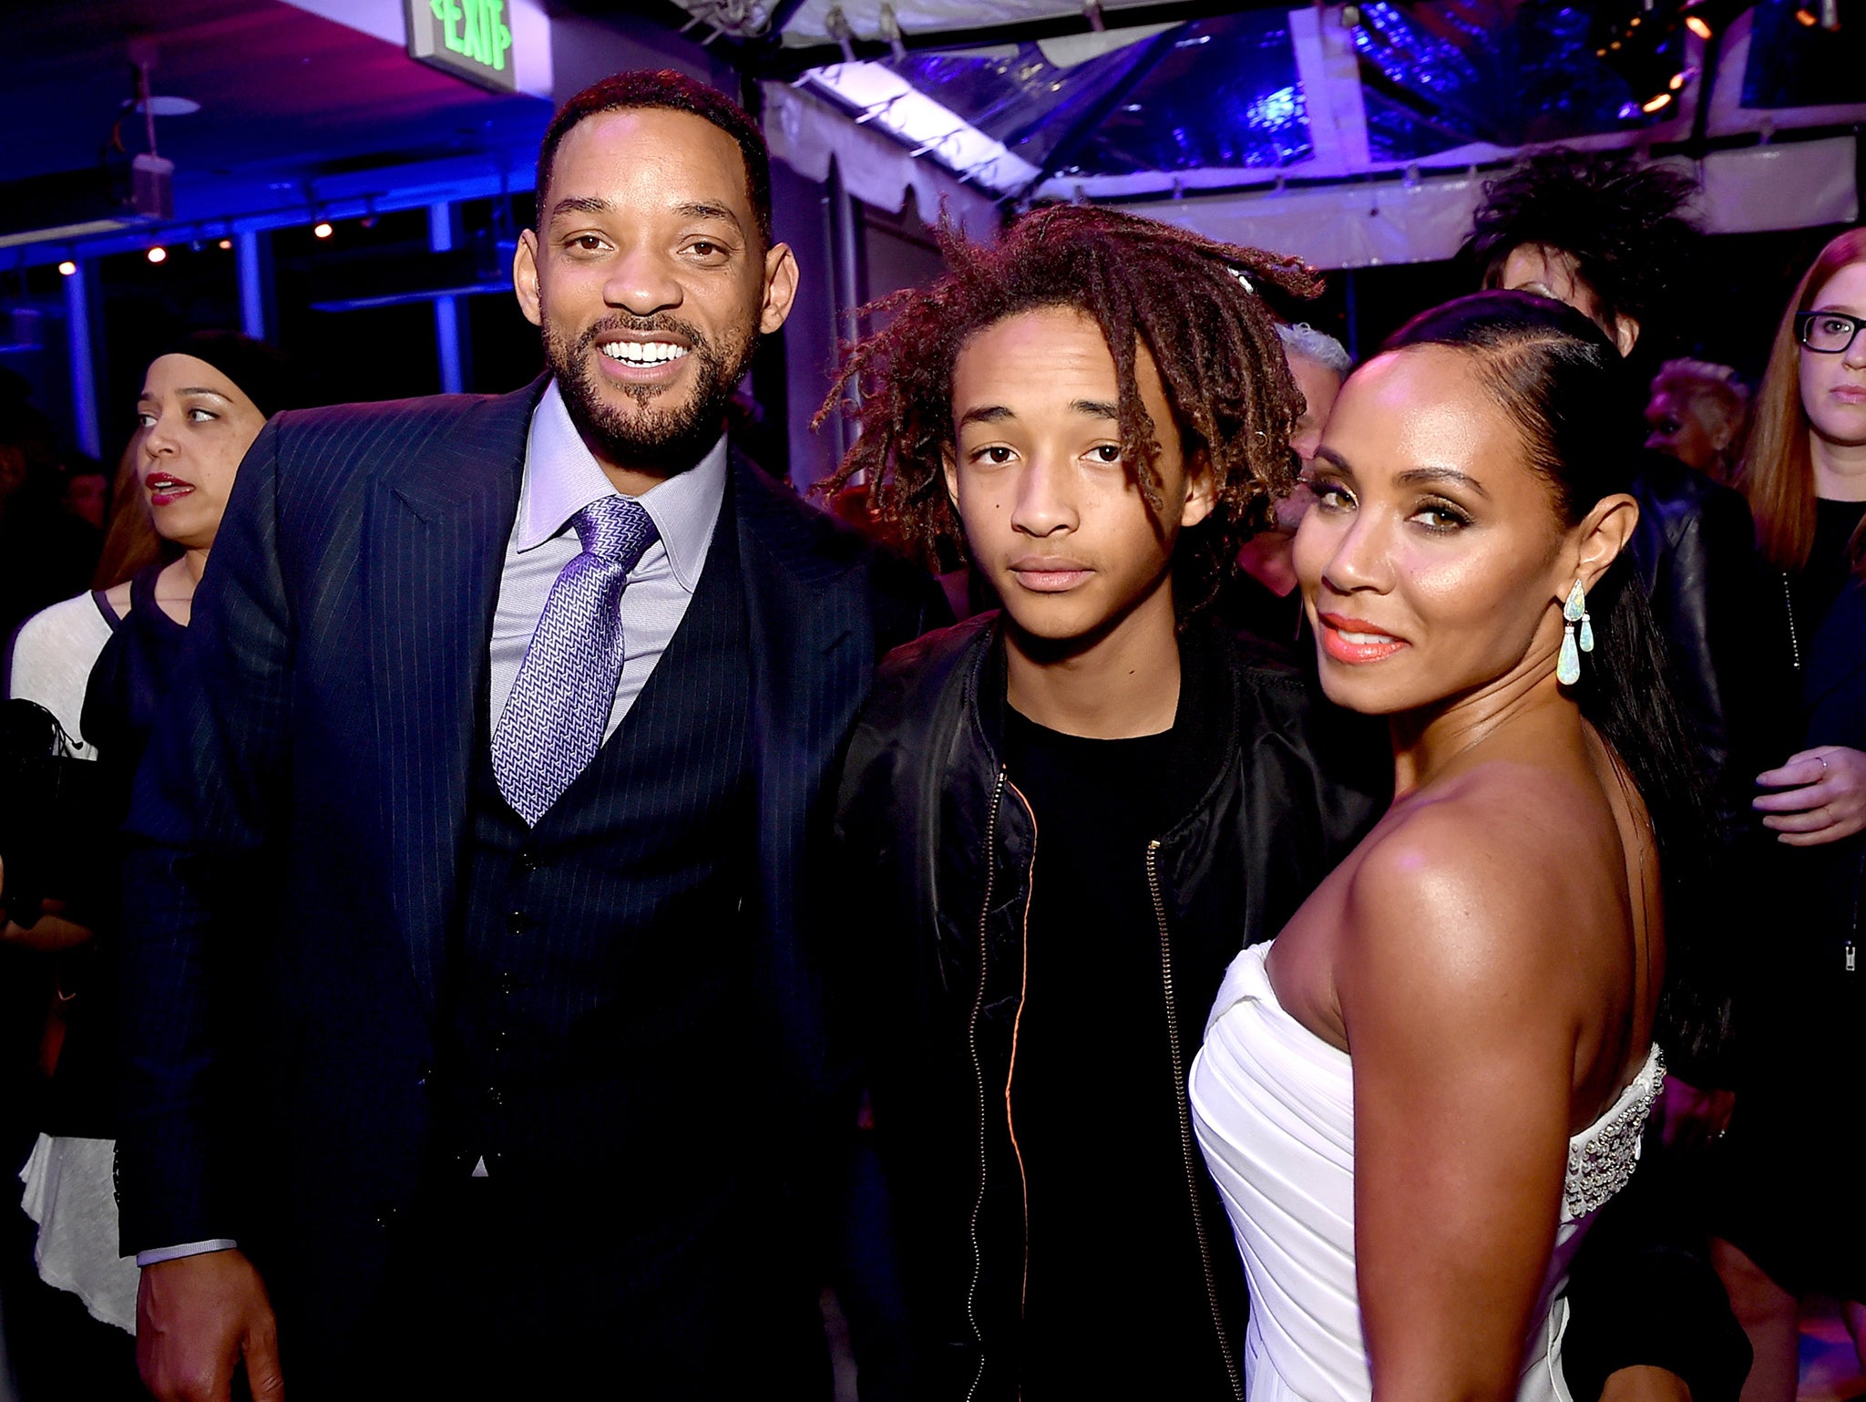
M 474 760 L 444 989 L 455 1165 L 698 1200 L 771 1094 L 750 1055 L 750 652 L 731 493 L 700 584 L 621 726 L 536 829 Z M 485 730 L 481 730 L 485 734 Z M 651 1199 L 649 1199 L 651 1200 Z

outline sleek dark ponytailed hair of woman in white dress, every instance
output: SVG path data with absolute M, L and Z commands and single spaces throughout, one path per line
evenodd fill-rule
M 1636 396 L 1618 349 L 1581 312 L 1532 293 L 1482 291 L 1413 317 L 1381 351 L 1414 345 L 1472 357 L 1480 385 L 1521 433 L 1528 467 L 1549 484 L 1564 528 L 1631 489 L 1640 439 L 1627 411 Z M 1706 904 L 1717 846 L 1709 777 L 1627 551 L 1595 582 L 1588 612 L 1597 642 L 1575 698 L 1646 805 L 1664 881 L 1659 1040 L 1676 1062 L 1706 1064 L 1730 1030 L 1722 960 L 1709 943 L 1719 926 Z

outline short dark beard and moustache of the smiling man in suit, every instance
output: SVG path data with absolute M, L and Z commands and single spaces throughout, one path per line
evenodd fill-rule
M 603 398 L 597 386 L 597 368 L 590 364 L 597 338 L 633 330 L 638 334 L 674 332 L 687 342 L 687 360 L 692 362 L 694 385 L 687 400 L 666 409 L 651 407 L 653 400 L 666 394 L 653 385 L 623 385 L 625 394 L 642 405 L 640 413 L 627 414 Z M 758 336 L 746 332 L 724 343 L 707 340 L 698 327 L 675 317 L 627 317 L 614 315 L 586 329 L 573 343 L 549 321 L 545 332 L 545 364 L 558 381 L 558 394 L 571 414 L 577 431 L 584 435 L 605 459 L 614 467 L 653 472 L 666 476 L 685 472 L 700 463 L 700 457 L 718 441 L 724 428 L 726 405 L 731 403 L 733 390 L 752 368 L 752 355 L 758 351 Z

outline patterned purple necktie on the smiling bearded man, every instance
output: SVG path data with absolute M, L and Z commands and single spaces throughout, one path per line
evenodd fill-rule
M 657 534 L 633 497 L 592 502 L 571 525 L 582 554 L 550 586 L 493 730 L 498 792 L 526 827 L 537 827 L 603 747 L 621 681 L 621 590 Z

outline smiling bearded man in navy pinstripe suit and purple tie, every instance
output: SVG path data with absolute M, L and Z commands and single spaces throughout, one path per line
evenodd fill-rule
M 750 119 L 552 121 L 550 375 L 285 414 L 131 820 L 123 1247 L 159 1398 L 827 1391 L 825 778 L 931 581 L 735 457 L 789 310 Z

